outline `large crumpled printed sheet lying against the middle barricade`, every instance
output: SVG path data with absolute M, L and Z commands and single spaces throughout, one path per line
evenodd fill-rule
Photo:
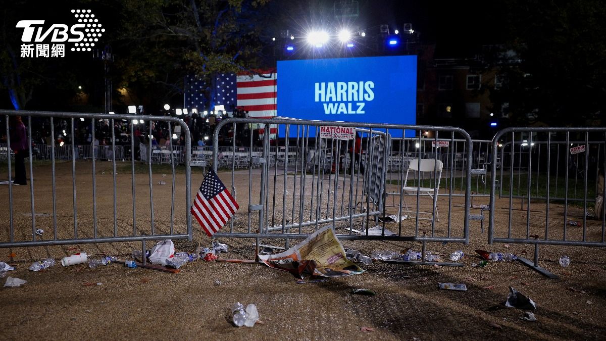
M 295 275 L 297 275 L 296 271 L 311 270 L 300 272 L 301 276 L 308 273 L 324 277 L 341 277 L 361 274 L 365 271 L 347 259 L 345 249 L 331 225 L 324 226 L 287 251 L 275 255 L 259 255 L 259 259 L 270 268 L 288 271 Z

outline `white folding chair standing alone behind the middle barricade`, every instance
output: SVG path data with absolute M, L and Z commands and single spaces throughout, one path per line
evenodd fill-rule
M 438 195 L 440 188 L 440 180 L 442 178 L 442 167 L 444 164 L 440 160 L 434 159 L 413 159 L 408 163 L 408 169 L 406 170 L 406 177 L 404 178 L 404 186 L 402 187 L 402 193 L 404 195 L 425 195 L 427 194 L 431 198 L 431 206 L 436 212 L 436 219 L 440 221 L 438 215 L 438 205 L 436 204 L 435 196 Z M 409 178 L 410 177 L 410 178 Z M 411 183 L 414 186 L 411 186 Z M 435 187 L 424 187 L 424 184 L 435 185 Z M 404 197 L 404 206 L 408 217 L 415 218 L 417 215 L 429 214 L 431 218 L 421 218 L 433 220 L 433 212 L 416 212 L 415 217 L 412 217 L 408 204 Z M 420 197 L 419 197 L 420 198 Z

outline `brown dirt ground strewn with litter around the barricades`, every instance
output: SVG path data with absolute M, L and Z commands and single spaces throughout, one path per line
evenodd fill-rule
M 121 168 L 122 169 L 122 168 Z M 165 171 L 163 171 L 165 172 Z M 35 223 L 42 228 L 43 239 L 53 238 L 53 208 L 51 168 L 37 165 L 35 173 Z M 95 235 L 92 209 L 92 171 L 90 164 L 76 167 L 76 198 L 78 237 Z M 156 174 L 157 173 L 157 174 Z M 170 232 L 171 175 L 153 174 L 153 204 L 155 233 Z M 59 163 L 57 178 L 58 238 L 73 238 L 73 194 L 70 163 Z M 96 221 L 98 236 L 111 236 L 113 224 L 113 176 L 110 163 L 98 163 L 96 174 Z M 219 174 L 230 187 L 230 174 Z M 2 175 L 2 176 L 5 176 Z M 253 178 L 255 176 L 253 175 Z M 159 181 L 167 184 L 159 185 Z M 198 189 L 201 174 L 191 177 L 192 192 Z M 248 171 L 235 176 L 241 209 L 234 231 L 247 229 Z M 256 186 L 255 181 L 253 186 Z M 116 177 L 119 195 L 116 199 L 118 235 L 133 233 L 133 203 L 130 172 L 119 172 Z M 137 233 L 151 233 L 150 180 L 147 174 L 136 175 Z M 184 176 L 176 178 L 174 231 L 185 233 Z M 258 194 L 256 194 L 258 195 Z M 273 195 L 273 194 L 272 194 Z M 274 197 L 281 197 L 279 192 Z M 8 187 L 0 187 L 0 219 L 4 228 L 0 240 L 8 241 Z M 441 222 L 435 234 L 447 232 L 447 198 L 440 198 Z M 253 199 L 254 201 L 254 199 Z M 279 200 L 276 200 L 279 201 Z M 479 205 L 481 200 L 474 201 Z M 484 202 L 482 202 L 484 203 Z M 515 201 L 516 207 L 519 200 Z M 507 236 L 508 199 L 496 204 L 496 235 Z M 291 209 L 287 207 L 286 211 Z M 451 228 L 454 235 L 462 233 L 462 209 L 453 206 Z M 280 203 L 277 212 L 284 211 Z M 473 210 L 472 214 L 478 214 Z M 562 233 L 558 221 L 562 207 L 550 205 L 550 237 Z M 527 233 L 526 211 L 511 211 L 512 235 Z M 305 212 L 307 214 L 307 211 Z M 487 213 L 486 213 L 487 214 Z M 582 210 L 569 209 L 571 218 L 582 215 Z M 253 217 L 255 217 L 253 215 Z M 281 217 L 278 217 L 281 219 Z M 30 187 L 13 187 L 13 220 L 15 240 L 27 240 L 32 235 Z M 531 205 L 529 234 L 544 235 L 545 204 Z M 254 221 L 254 218 L 253 218 Z M 587 240 L 599 240 L 601 225 L 589 221 Z M 553 225 L 552 225 L 553 224 Z M 560 224 L 561 225 L 561 224 Z M 210 238 L 200 235 L 194 221 L 193 241 L 175 240 L 177 251 L 194 251 L 198 243 L 210 245 Z M 397 224 L 386 225 L 398 231 Z M 414 220 L 402 223 L 403 231 L 415 229 Z M 356 226 L 355 226 L 356 227 Z M 487 223 L 485 223 L 487 228 Z M 228 231 L 226 226 L 222 231 Z M 423 222 L 420 231 L 431 233 Z M 339 233 L 347 233 L 338 225 Z M 582 238 L 581 228 L 569 226 L 568 238 Z M 219 238 L 230 251 L 221 258 L 254 258 L 254 239 Z M 298 241 L 291 240 L 291 245 Z M 263 240 L 263 243 L 282 245 L 284 240 Z M 388 249 L 402 251 L 420 249 L 420 243 L 410 241 L 344 240 L 345 248 L 355 248 L 370 254 Z M 153 241 L 148 242 L 148 248 Z M 188 263 L 179 274 L 130 269 L 120 265 L 89 269 L 86 265 L 67 268 L 59 263 L 42 272 L 28 271 L 32 260 L 85 251 L 126 257 L 132 249 L 141 248 L 139 242 L 36 246 L 0 250 L 0 260 L 8 262 L 8 254 L 15 252 L 16 270 L 12 277 L 27 280 L 19 288 L 0 288 L 0 318 L 3 326 L 0 339 L 604 339 L 606 335 L 606 252 L 602 248 L 578 246 L 541 246 L 540 265 L 559 276 L 548 279 L 521 263 L 490 263 L 485 268 L 473 267 L 480 260 L 473 251 L 485 249 L 494 252 L 512 252 L 533 258 L 533 245 L 488 245 L 487 231 L 481 233 L 479 221 L 470 223 L 470 243 L 428 243 L 427 249 L 447 258 L 451 252 L 462 249 L 464 267 L 395 265 L 373 262 L 360 275 L 330 279 L 320 283 L 298 284 L 292 275 L 270 269 L 262 264 L 228 264 L 219 262 Z M 561 255 L 571 258 L 568 268 L 559 266 Z M 4 283 L 5 279 L 0 280 Z M 215 284 L 220 281 L 221 284 Z M 467 291 L 438 289 L 438 283 L 465 283 Z M 102 283 L 86 285 L 86 283 Z M 509 286 L 521 291 L 537 303 L 536 322 L 519 317 L 524 310 L 506 308 Z M 372 289 L 377 295 L 355 295 L 355 288 Z M 235 302 L 255 303 L 262 324 L 253 328 L 236 328 L 230 322 L 229 307 Z M 363 332 L 362 327 L 374 331 Z

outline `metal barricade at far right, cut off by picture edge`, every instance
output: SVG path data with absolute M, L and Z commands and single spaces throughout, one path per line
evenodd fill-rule
M 491 164 L 488 243 L 534 245 L 534 260 L 520 260 L 548 277 L 557 276 L 539 266 L 539 245 L 606 246 L 604 215 L 591 213 L 606 186 L 604 141 L 603 127 L 514 127 L 497 133 L 492 159 L 501 162 Z M 495 217 L 499 202 L 507 206 L 507 218 Z

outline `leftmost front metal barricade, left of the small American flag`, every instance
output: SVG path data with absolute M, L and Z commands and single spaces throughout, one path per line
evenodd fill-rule
M 32 146 L 32 118 L 36 118 L 36 121 L 47 121 L 52 136 L 55 136 L 56 121 L 71 121 L 67 128 L 69 137 L 76 136 L 78 127 L 74 124 L 75 120 L 80 119 L 77 121 L 80 127 L 85 124 L 82 121 L 87 121 L 91 127 L 92 141 L 95 140 L 95 122 L 100 118 L 111 120 L 112 126 L 113 120 L 128 120 L 130 122 L 136 118 L 141 122 L 139 127 L 143 127 L 142 129 L 149 127 L 150 135 L 152 123 L 163 121 L 170 123 L 168 124 L 169 133 L 173 127 L 180 126 L 181 132 L 185 135 L 186 143 L 190 144 L 187 125 L 178 118 L 168 116 L 104 115 L 25 110 L 0 110 L 0 115 L 5 115 L 7 118 L 5 127 L 7 136 L 12 133 L 8 124 L 9 116 L 21 116 L 23 118 L 25 125 L 28 127 L 29 146 Z M 143 121 L 145 123 L 142 123 Z M 134 124 L 130 127 L 131 134 L 133 134 L 133 126 Z M 154 184 L 158 182 L 158 175 L 154 177 L 150 162 L 148 162 L 147 177 L 136 175 L 137 167 L 135 167 L 134 159 L 131 159 L 128 163 L 118 163 L 121 170 L 120 175 L 118 175 L 116 161 L 121 161 L 124 158 L 122 146 L 116 146 L 113 142 L 110 146 L 95 144 L 76 146 L 73 140 L 72 138 L 71 142 L 62 143 L 60 146 L 55 144 L 55 140 L 52 140 L 50 148 L 45 150 L 45 153 L 50 155 L 50 166 L 47 164 L 37 165 L 37 168 L 47 167 L 48 172 L 35 170 L 32 147 L 25 150 L 28 153 L 26 157 L 29 159 L 27 168 L 29 175 L 28 195 L 25 194 L 27 192 L 26 186 L 12 184 L 13 166 L 11 161 L 15 157 L 11 155 L 8 158 L 8 183 L 7 186 L 0 187 L 0 191 L 8 197 L 8 212 L 2 211 L 1 213 L 2 218 L 5 218 L 8 224 L 7 229 L 0 232 L 0 248 L 142 241 L 142 251 L 145 253 L 145 240 L 191 240 L 191 215 L 189 213 L 191 203 L 191 155 L 188 149 L 184 150 L 185 172 L 182 177 L 177 177 L 175 163 L 170 162 L 172 177 L 163 176 L 159 178 L 161 179 L 159 181 L 161 186 L 156 187 Z M 115 141 L 113 130 L 112 141 Z M 151 151 L 150 145 L 145 147 L 147 152 Z M 10 149 L 10 143 L 7 148 Z M 128 150 L 130 152 L 133 149 L 133 141 L 131 141 Z M 77 160 L 85 161 L 76 162 Z M 105 162 L 99 162 L 101 160 Z M 108 167 L 106 160 L 110 160 L 111 167 Z M 150 154 L 147 154 L 146 160 L 150 160 Z M 101 168 L 106 171 L 102 171 Z M 124 172 L 127 174 L 122 174 L 124 168 L 130 168 L 127 172 Z M 83 171 L 84 173 L 82 173 Z M 142 190 L 141 180 L 143 177 L 147 178 L 145 180 L 147 186 L 145 187 L 148 187 L 148 189 Z M 162 186 L 166 185 L 167 181 L 171 181 L 171 184 Z M 184 201 L 175 199 L 177 183 L 185 188 Z M 121 189 L 128 190 L 123 192 Z M 70 194 L 72 196 L 71 200 L 69 200 Z M 148 208 L 145 207 L 146 201 Z M 29 210 L 27 206 L 30 207 Z M 70 206 L 73 206 L 73 209 L 70 209 Z M 59 213 L 58 207 L 60 209 Z M 176 209 L 179 209 L 179 211 L 182 209 L 182 214 L 176 215 Z M 42 212 L 52 212 L 52 214 Z M 29 216 L 31 220 L 29 220 Z M 44 228 L 44 234 L 36 233 L 36 229 L 39 227 Z

